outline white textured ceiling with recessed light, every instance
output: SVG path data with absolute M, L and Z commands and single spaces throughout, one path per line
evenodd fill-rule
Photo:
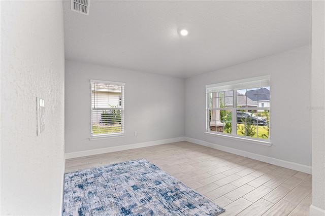
M 188 78 L 311 44 L 311 1 L 63 1 L 67 60 Z M 183 37 L 178 30 L 185 27 Z

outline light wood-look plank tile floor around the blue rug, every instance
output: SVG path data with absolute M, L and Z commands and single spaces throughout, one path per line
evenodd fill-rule
M 66 160 L 66 172 L 145 158 L 226 209 L 225 215 L 309 215 L 312 176 L 190 142 Z

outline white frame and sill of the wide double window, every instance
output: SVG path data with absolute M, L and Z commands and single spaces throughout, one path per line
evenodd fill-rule
M 258 135 L 258 127 L 256 127 L 257 133 L 256 133 L 256 137 L 251 137 L 251 136 L 247 136 L 247 135 L 238 135 L 237 134 L 237 112 L 240 110 L 251 110 L 251 111 L 255 111 L 255 113 L 258 113 L 259 110 L 267 110 L 270 113 L 270 106 L 266 107 L 262 107 L 258 105 L 258 101 L 257 106 L 256 107 L 237 107 L 237 90 L 248 90 L 248 89 L 253 89 L 256 88 L 257 89 L 257 93 L 258 93 L 258 89 L 259 88 L 263 88 L 263 87 L 270 87 L 271 89 L 271 85 L 270 85 L 270 80 L 271 80 L 271 76 L 262 76 L 262 77 L 255 77 L 255 78 L 248 78 L 248 79 L 243 79 L 243 80 L 235 80 L 235 81 L 230 81 L 230 82 L 223 82 L 223 83 L 216 83 L 216 84 L 210 84 L 210 85 L 206 85 L 206 130 L 205 133 L 207 135 L 214 135 L 214 136 L 219 136 L 219 137 L 224 137 L 224 138 L 231 138 L 231 139 L 236 139 L 236 140 L 242 140 L 242 141 L 247 141 L 247 142 L 251 142 L 251 143 L 256 143 L 256 144 L 261 144 L 261 145 L 266 145 L 266 146 L 271 146 L 272 145 L 272 141 L 271 141 L 271 137 L 270 137 L 270 132 L 269 132 L 269 136 L 267 139 L 265 138 L 259 138 Z M 226 91 L 232 91 L 232 95 L 233 95 L 233 103 L 229 104 L 232 105 L 232 107 L 212 107 L 210 106 L 211 103 L 211 95 L 209 95 L 210 93 L 220 93 L 220 92 L 226 92 Z M 214 98 L 214 96 L 212 96 L 212 98 Z M 217 96 L 216 96 L 217 98 Z M 248 98 L 248 96 L 246 95 L 246 98 Z M 218 98 L 217 98 L 218 99 Z M 271 92 L 270 92 L 270 101 L 271 101 Z M 268 104 L 270 104 L 270 101 Z M 217 106 L 217 105 L 216 105 Z M 211 130 L 210 127 L 210 123 L 211 123 L 211 119 L 210 119 L 210 115 L 213 116 L 213 114 L 210 114 L 211 110 L 231 110 L 232 113 L 232 131 L 231 133 L 226 133 L 224 131 L 220 132 L 218 131 L 217 128 L 215 128 L 215 131 Z M 246 111 L 245 111 L 246 112 Z M 219 117 L 219 121 L 221 121 L 221 115 Z M 214 121 L 218 121 L 218 119 L 214 120 Z M 224 122 L 224 121 L 223 121 Z M 258 121 L 257 121 L 258 122 Z M 245 121 L 245 126 L 246 126 L 247 122 Z M 225 124 L 224 124 L 225 125 Z M 258 125 L 258 124 L 256 124 Z M 269 131 L 270 131 L 270 124 L 269 126 Z M 217 124 L 216 126 L 217 127 Z

